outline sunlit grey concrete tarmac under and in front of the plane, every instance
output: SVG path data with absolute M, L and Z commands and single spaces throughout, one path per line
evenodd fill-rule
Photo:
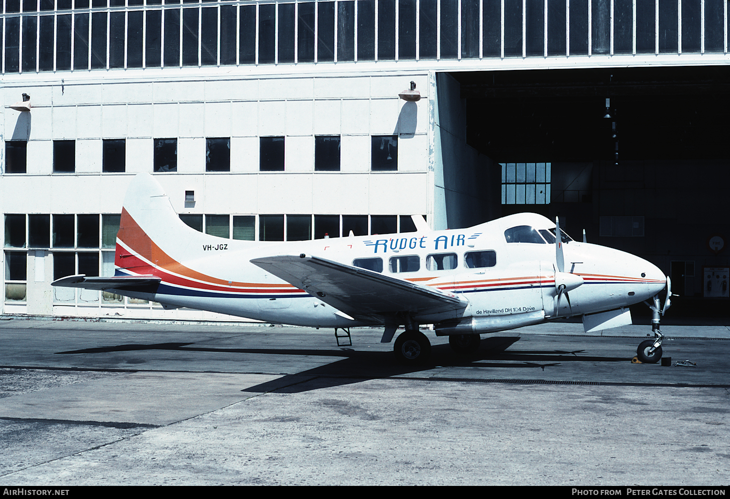
M 730 328 L 662 331 L 670 366 L 555 322 L 404 368 L 371 328 L 0 320 L 0 484 L 727 485 Z

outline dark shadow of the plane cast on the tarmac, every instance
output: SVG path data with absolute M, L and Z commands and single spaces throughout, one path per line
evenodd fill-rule
M 287 374 L 270 382 L 257 384 L 243 392 L 294 393 L 334 387 L 342 384 L 357 383 L 367 379 L 404 376 L 441 367 L 477 367 L 502 369 L 555 368 L 561 363 L 572 362 L 626 362 L 626 357 L 598 357 L 586 355 L 585 350 L 572 352 L 564 350 L 510 350 L 519 341 L 514 336 L 493 336 L 483 339 L 480 349 L 469 357 L 456 355 L 447 344 L 434 345 L 431 349 L 431 362 L 425 365 L 405 366 L 396 362 L 393 352 L 362 352 L 340 347 L 339 349 L 288 349 L 288 348 L 210 348 L 194 347 L 193 343 L 123 344 L 113 347 L 57 352 L 58 354 L 94 354 L 102 352 L 127 352 L 132 350 L 176 350 L 179 352 L 226 352 L 271 355 L 307 355 L 312 357 L 345 357 L 326 365 Z M 493 362 L 485 362 L 485 361 Z M 455 379 L 456 380 L 456 379 Z

